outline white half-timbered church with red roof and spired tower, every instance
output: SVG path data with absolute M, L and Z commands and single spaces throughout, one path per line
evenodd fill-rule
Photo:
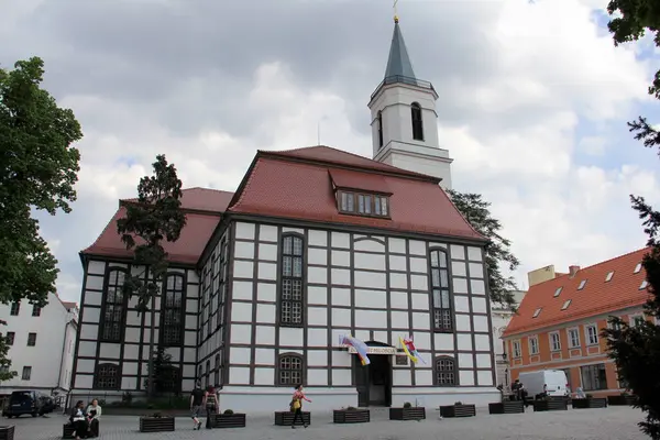
M 74 399 L 145 392 L 150 341 L 172 355 L 172 392 L 196 381 L 237 411 L 483 405 L 495 389 L 486 239 L 451 204 L 433 86 L 415 76 L 395 20 L 370 101 L 373 158 L 328 146 L 258 151 L 234 193 L 184 190 L 187 226 L 148 312 L 124 297 L 133 264 L 119 208 L 80 252 Z M 153 334 L 152 318 L 155 321 Z M 343 336 L 363 341 L 363 366 Z M 414 340 L 411 363 L 399 338 Z M 222 404 L 226 402 L 226 404 Z

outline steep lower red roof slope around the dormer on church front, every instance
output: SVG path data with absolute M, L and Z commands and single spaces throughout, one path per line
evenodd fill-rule
M 242 193 L 238 194 L 238 200 L 229 208 L 229 212 L 484 240 L 438 184 L 431 180 L 387 174 L 375 176 L 382 178 L 392 193 L 392 219 L 341 215 L 337 209 L 329 172 L 334 176 L 336 168 L 332 165 L 282 161 L 260 153 Z M 370 186 L 375 184 L 370 180 L 373 175 L 369 173 L 351 173 L 363 176 Z M 351 179 L 356 177 L 351 175 Z

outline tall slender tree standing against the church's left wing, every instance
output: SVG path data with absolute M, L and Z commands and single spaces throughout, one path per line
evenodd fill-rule
M 138 200 L 127 204 L 127 216 L 117 220 L 117 230 L 128 250 L 133 250 L 135 264 L 142 273 L 131 274 L 123 285 L 125 295 L 138 297 L 138 312 L 154 307 L 167 273 L 167 252 L 163 240 L 175 242 L 186 226 L 182 208 L 182 180 L 176 167 L 168 165 L 164 155 L 152 164 L 153 176 L 144 176 L 138 185 Z M 138 239 L 138 240 L 136 240 Z M 151 314 L 150 353 L 154 352 L 155 314 Z M 153 355 L 148 358 L 150 381 L 147 395 L 153 395 Z

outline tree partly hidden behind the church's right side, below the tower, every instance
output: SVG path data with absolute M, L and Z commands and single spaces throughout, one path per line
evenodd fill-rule
M 491 204 L 479 194 L 462 194 L 453 189 L 448 190 L 448 194 L 472 228 L 491 240 L 485 249 L 491 300 L 516 310 L 517 305 L 513 294 L 513 290 L 517 289 L 516 283 L 513 277 L 502 273 L 501 265 L 504 264 L 509 271 L 515 271 L 520 262 L 512 253 L 512 242 L 499 234 L 502 223 L 491 216 L 488 209 Z

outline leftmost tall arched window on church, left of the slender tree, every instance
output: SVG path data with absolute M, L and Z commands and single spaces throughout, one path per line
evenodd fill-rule
M 123 319 L 125 315 L 125 298 L 123 294 L 125 277 L 127 270 L 123 267 L 111 268 L 106 275 L 100 337 L 103 342 L 122 341 Z

